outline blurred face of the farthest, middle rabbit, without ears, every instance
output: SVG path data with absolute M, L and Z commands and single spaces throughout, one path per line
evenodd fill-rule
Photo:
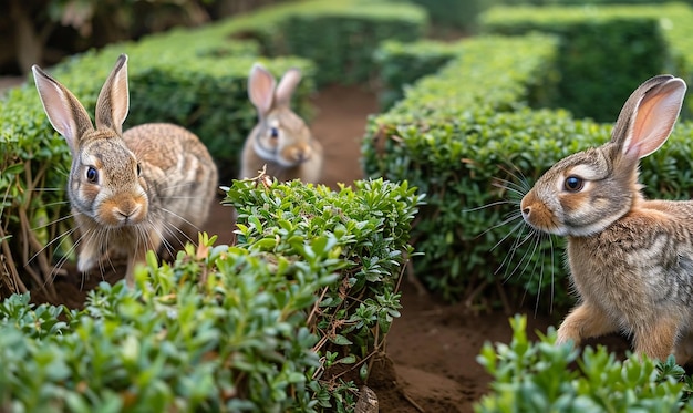
M 312 156 L 310 130 L 289 110 L 278 110 L 267 117 L 256 141 L 256 152 L 267 161 L 292 167 Z

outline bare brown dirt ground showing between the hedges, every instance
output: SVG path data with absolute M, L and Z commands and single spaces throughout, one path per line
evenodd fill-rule
M 375 94 L 358 86 L 333 86 L 317 94 L 314 105 L 317 116 L 311 127 L 327 157 L 323 183 L 335 187 L 338 182 L 361 178 L 359 138 L 366 116 L 379 110 Z M 217 242 L 232 241 L 230 208 L 215 203 L 211 214 L 203 229 L 219 235 Z M 115 281 L 116 277 L 106 279 Z M 80 307 L 97 281 L 60 277 L 55 288 L 61 303 Z M 45 298 L 35 293 L 34 300 Z M 380 411 L 472 412 L 473 403 L 488 391 L 490 382 L 476 357 L 486 341 L 510 340 L 510 314 L 478 314 L 464 303 L 445 304 L 407 280 L 402 283 L 402 317 L 394 321 L 386 352 L 374 364 L 369 381 L 379 396 Z M 545 332 L 551 319 L 529 311 L 528 323 L 530 332 Z M 624 347 L 620 338 L 610 339 L 613 345 Z

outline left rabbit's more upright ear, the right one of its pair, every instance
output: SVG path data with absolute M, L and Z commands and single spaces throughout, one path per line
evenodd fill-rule
M 130 109 L 127 90 L 127 54 L 121 54 L 115 68 L 101 87 L 96 101 L 96 127 L 107 127 L 123 134 L 123 122 Z

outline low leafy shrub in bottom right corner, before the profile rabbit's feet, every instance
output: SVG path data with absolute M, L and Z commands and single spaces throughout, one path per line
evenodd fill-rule
M 655 362 L 631 355 L 617 360 L 604 347 L 581 354 L 571 344 L 555 345 L 549 331 L 540 342 L 527 339 L 527 320 L 510 320 L 513 341 L 486 343 L 478 361 L 492 374 L 492 392 L 475 412 L 676 412 L 693 411 L 692 388 L 673 357 Z

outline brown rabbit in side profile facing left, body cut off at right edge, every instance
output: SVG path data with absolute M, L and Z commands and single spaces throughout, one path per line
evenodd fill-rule
M 669 138 L 686 92 L 658 75 L 628 99 L 597 148 L 556 163 L 520 202 L 536 230 L 567 237 L 579 303 L 557 344 L 611 332 L 628 334 L 637 354 L 685 363 L 693 328 L 693 202 L 645 199 L 639 159 Z

